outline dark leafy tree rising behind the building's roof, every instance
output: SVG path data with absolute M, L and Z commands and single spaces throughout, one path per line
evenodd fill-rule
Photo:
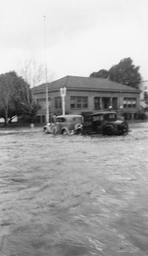
M 113 65 L 109 71 L 100 70 L 93 72 L 90 77 L 109 78 L 111 81 L 126 84 L 127 86 L 137 87 L 141 81 L 139 66 L 133 64 L 133 60 L 129 58 L 121 59 L 117 65 Z

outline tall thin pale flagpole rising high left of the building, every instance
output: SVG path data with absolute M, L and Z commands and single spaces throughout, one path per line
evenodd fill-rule
M 48 84 L 47 84 L 47 46 L 46 46 L 46 16 L 44 16 L 44 40 L 45 40 L 45 95 L 46 95 L 46 123 L 49 122 L 49 102 L 48 102 Z

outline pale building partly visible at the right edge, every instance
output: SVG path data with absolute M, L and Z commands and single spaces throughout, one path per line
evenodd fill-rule
M 148 81 L 141 81 L 138 87 L 140 90 L 140 109 L 145 109 L 147 104 L 145 103 L 144 95 L 148 95 Z

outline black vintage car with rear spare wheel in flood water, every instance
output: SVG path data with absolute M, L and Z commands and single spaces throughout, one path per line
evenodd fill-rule
M 78 134 L 126 135 L 128 123 L 118 120 L 116 112 L 97 112 L 84 120 Z

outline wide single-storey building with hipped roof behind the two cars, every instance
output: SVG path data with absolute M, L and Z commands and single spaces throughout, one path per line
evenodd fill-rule
M 60 88 L 66 87 L 66 114 L 114 110 L 119 114 L 128 113 L 136 119 L 139 112 L 140 90 L 104 78 L 66 76 L 48 83 L 49 114 L 62 113 Z M 35 101 L 40 105 L 38 122 L 45 122 L 46 84 L 35 87 Z

